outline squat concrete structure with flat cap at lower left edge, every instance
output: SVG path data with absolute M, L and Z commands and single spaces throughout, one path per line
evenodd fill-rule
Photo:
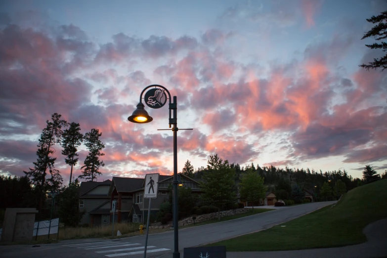
M 34 233 L 35 208 L 7 208 L 2 226 L 1 242 L 29 242 Z

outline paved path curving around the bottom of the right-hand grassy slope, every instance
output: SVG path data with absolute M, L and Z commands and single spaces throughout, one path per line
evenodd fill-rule
M 353 246 L 276 252 L 227 252 L 227 258 L 387 257 L 387 218 L 367 225 L 363 233 L 367 236 L 367 242 Z

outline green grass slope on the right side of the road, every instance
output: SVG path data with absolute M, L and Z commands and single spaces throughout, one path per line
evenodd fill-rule
M 213 243 L 229 252 L 327 248 L 365 242 L 363 228 L 387 217 L 387 179 L 357 187 L 336 205 L 264 231 Z

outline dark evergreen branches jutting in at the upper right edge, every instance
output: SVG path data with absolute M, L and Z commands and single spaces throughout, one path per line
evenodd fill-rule
M 370 31 L 364 34 L 363 39 L 366 38 L 374 38 L 377 41 L 383 40 L 387 38 L 387 11 L 382 12 L 378 16 L 372 16 L 370 19 L 367 19 L 368 22 L 376 24 Z M 367 45 L 367 47 L 371 49 L 382 49 L 384 52 L 387 51 L 387 43 L 373 43 L 371 45 Z M 381 58 L 374 58 L 374 62 L 369 64 L 362 64 L 360 67 L 363 67 L 367 70 L 369 69 L 377 69 L 382 68 L 382 71 L 387 68 L 387 54 Z

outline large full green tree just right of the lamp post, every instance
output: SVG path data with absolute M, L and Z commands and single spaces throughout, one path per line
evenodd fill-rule
M 214 205 L 218 208 L 218 219 L 220 220 L 220 209 L 236 201 L 235 194 L 235 170 L 230 167 L 227 160 L 219 159 L 217 154 L 210 156 L 207 170 L 202 176 L 200 188 L 203 192 L 201 198 L 204 203 Z

